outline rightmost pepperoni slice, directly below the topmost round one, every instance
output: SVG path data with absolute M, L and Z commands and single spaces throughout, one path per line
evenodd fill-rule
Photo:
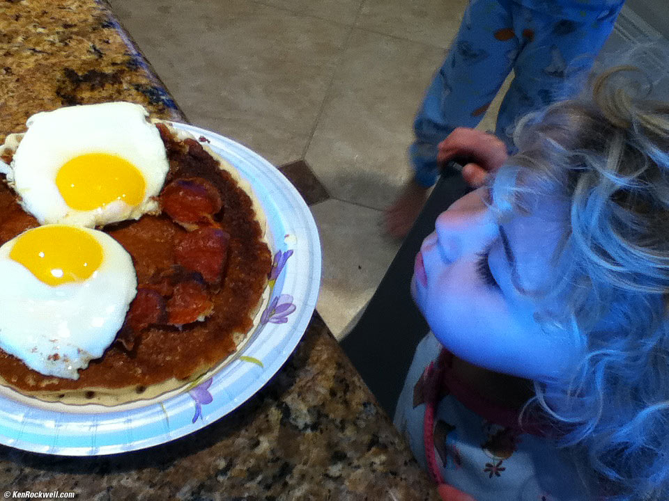
M 188 271 L 197 271 L 210 285 L 221 282 L 230 235 L 219 228 L 199 228 L 187 232 L 174 248 L 176 262 Z

